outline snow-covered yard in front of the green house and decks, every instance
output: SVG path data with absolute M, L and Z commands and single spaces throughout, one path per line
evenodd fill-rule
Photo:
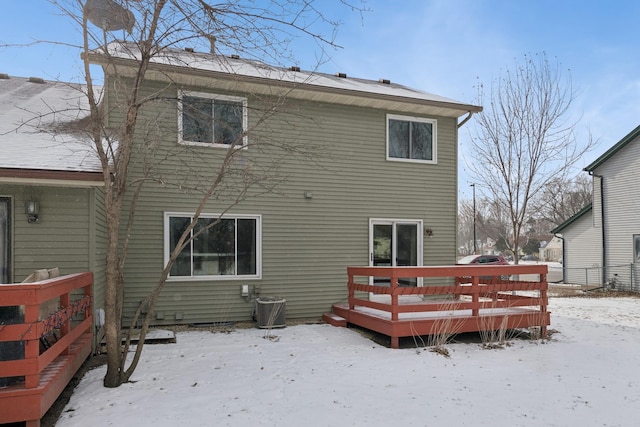
M 57 426 L 636 426 L 640 299 L 551 298 L 550 341 L 392 350 L 300 325 L 183 332 L 133 382 L 76 388 Z

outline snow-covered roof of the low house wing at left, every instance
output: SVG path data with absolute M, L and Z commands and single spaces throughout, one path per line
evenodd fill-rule
M 90 141 L 73 134 L 88 116 L 80 85 L 0 78 L 0 168 L 100 172 Z

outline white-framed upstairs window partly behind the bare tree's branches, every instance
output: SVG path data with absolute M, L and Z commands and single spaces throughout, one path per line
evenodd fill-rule
M 247 147 L 247 99 L 182 91 L 178 94 L 178 138 L 181 144 Z

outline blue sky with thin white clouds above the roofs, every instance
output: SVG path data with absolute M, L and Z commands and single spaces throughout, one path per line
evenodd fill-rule
M 338 0 L 333 0 L 339 4 Z M 322 7 L 332 4 L 321 0 Z M 367 0 L 369 12 L 327 9 L 342 21 L 341 49 L 320 70 L 386 78 L 473 103 L 478 82 L 489 83 L 525 54 L 546 52 L 570 70 L 579 92 L 571 114 L 600 145 L 588 165 L 640 124 L 640 2 L 635 0 Z M 79 34 L 46 0 L 2 1 L 0 44 L 33 40 L 76 42 Z M 314 46 L 296 45 L 298 65 L 316 66 Z M 77 81 L 75 51 L 36 45 L 0 48 L 0 73 Z M 473 123 L 460 130 L 461 157 Z M 472 179 L 460 164 L 460 197 Z

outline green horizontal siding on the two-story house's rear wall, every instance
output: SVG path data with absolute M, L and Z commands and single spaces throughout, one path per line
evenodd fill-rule
M 162 93 L 167 101 L 151 104 L 140 116 L 161 123 L 152 133 L 162 139 L 159 144 L 155 140 L 151 150 L 137 152 L 133 163 L 131 179 L 141 176 L 149 159 L 153 160 L 146 164 L 153 165 L 151 173 L 158 179 L 145 184 L 136 205 L 125 271 L 125 319 L 160 277 L 164 213 L 195 211 L 200 196 L 194 188 L 210 182 L 225 153 L 214 147 L 179 146 L 176 105 L 171 101 L 177 89 L 153 83 L 145 90 Z M 240 295 L 242 284 L 259 287 L 262 296 L 285 298 L 289 318 L 318 317 L 332 303 L 346 299 L 346 267 L 368 265 L 370 218 L 422 220 L 434 234 L 424 238 L 423 264 L 455 262 L 456 119 L 428 117 L 438 124 L 436 164 L 393 162 L 386 160 L 386 114 L 397 112 L 290 101 L 254 132 L 252 127 L 268 105 L 263 99 L 247 98 L 252 131 L 249 148 L 237 165 L 260 169 L 274 162 L 287 177 L 273 193 L 250 191 L 250 197 L 231 210 L 262 216 L 261 278 L 170 280 L 156 307 L 157 324 L 247 320 L 253 304 Z M 108 99 L 115 102 L 113 96 Z M 111 117 L 110 123 L 117 126 L 118 118 Z M 298 156 L 273 148 L 289 142 L 313 154 Z M 178 184 L 176 177 L 181 177 Z M 227 195 L 235 194 L 234 182 L 226 183 Z M 312 197 L 305 197 L 305 192 Z M 220 213 L 228 205 L 221 195 L 205 212 Z

